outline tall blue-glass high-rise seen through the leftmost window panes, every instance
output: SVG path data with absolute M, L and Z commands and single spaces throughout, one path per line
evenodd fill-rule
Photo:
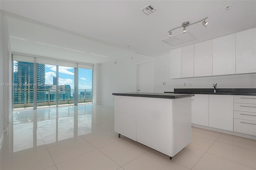
M 33 103 L 34 63 L 18 61 L 14 70 L 14 103 Z M 44 89 L 45 65 L 37 64 L 37 89 Z M 37 101 L 45 100 L 45 91 L 38 91 Z

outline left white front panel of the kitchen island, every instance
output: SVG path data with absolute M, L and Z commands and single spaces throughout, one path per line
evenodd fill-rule
M 136 141 L 136 97 L 114 96 L 114 130 Z

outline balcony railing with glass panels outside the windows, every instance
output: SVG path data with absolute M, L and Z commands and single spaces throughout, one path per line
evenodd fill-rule
M 13 89 L 13 108 L 33 107 L 33 89 Z M 56 105 L 56 89 L 38 89 L 37 106 Z M 92 102 L 92 89 L 78 89 L 78 103 Z M 58 89 L 58 104 L 74 103 L 74 89 Z

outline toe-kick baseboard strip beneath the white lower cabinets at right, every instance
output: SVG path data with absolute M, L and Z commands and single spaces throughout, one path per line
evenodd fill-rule
M 192 127 L 204 128 L 204 129 L 207 129 L 207 130 L 213 130 L 213 131 L 216 131 L 216 132 L 232 134 L 232 135 L 236 135 L 236 136 L 256 140 L 256 136 L 253 136 L 253 135 L 250 135 L 250 134 L 244 134 L 244 133 L 239 133 L 239 132 L 234 132 L 234 131 L 229 131 L 229 130 L 224 130 L 224 129 L 219 129 L 219 128 L 213 128 L 213 127 L 206 127 L 206 126 L 203 126 L 203 125 L 196 125 L 194 123 L 192 123 Z

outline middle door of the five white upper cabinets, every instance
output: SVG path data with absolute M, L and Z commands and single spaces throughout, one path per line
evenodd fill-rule
M 212 75 L 212 40 L 194 45 L 194 77 Z

